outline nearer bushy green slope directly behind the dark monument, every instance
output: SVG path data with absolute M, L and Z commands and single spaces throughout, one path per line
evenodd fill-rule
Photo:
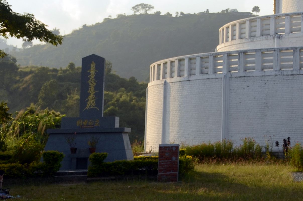
M 132 129 L 130 140 L 143 140 L 147 84 L 138 83 L 134 77 L 125 79 L 112 73 L 109 61 L 105 72 L 104 116 L 120 117 L 120 126 Z M 76 117 L 79 115 L 80 79 L 81 67 L 72 62 L 63 69 L 19 68 L 16 59 L 8 55 L 0 58 L 0 103 L 7 103 L 13 117 L 17 116 L 14 112 L 29 106 L 30 110 L 48 108 Z

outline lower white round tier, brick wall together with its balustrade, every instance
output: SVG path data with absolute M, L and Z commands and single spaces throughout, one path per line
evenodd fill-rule
M 150 73 L 146 151 L 245 137 L 303 142 L 303 47 L 186 55 Z

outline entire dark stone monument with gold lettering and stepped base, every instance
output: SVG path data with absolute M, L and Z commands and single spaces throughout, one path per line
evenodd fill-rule
M 60 129 L 48 129 L 45 150 L 63 152 L 61 169 L 87 169 L 88 141 L 98 138 L 96 152 L 107 152 L 105 162 L 132 160 L 128 132 L 119 128 L 119 117 L 103 117 L 105 59 L 92 54 L 82 58 L 79 117 L 64 117 Z M 71 153 L 66 137 L 75 139 L 76 153 Z

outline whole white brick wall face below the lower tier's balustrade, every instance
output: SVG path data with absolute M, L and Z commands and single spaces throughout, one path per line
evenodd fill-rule
M 291 137 L 303 142 L 303 75 L 231 77 L 227 138 L 239 146 Z M 221 140 L 222 79 L 170 82 L 167 87 L 166 143 L 199 144 Z M 161 144 L 163 84 L 148 88 L 146 150 Z M 294 142 L 295 141 L 295 142 Z

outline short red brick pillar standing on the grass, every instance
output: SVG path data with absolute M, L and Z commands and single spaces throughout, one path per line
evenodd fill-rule
M 179 176 L 178 144 L 159 145 L 158 182 L 177 182 Z

